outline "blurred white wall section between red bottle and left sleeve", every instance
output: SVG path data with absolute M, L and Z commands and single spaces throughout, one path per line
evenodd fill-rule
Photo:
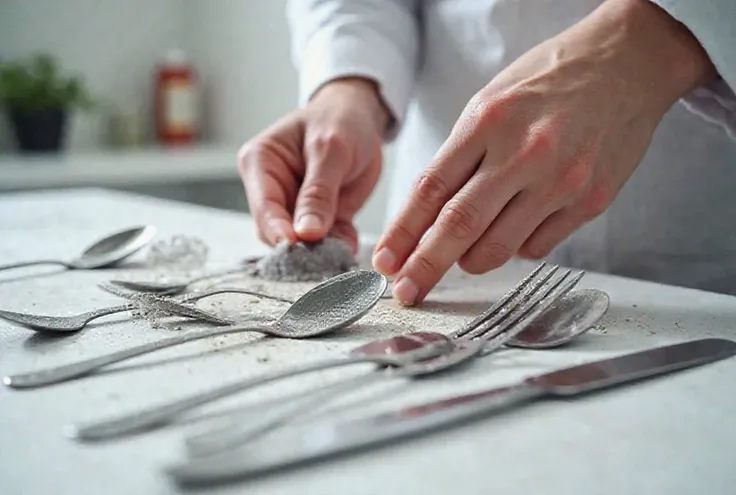
M 185 38 L 205 78 L 207 124 L 241 143 L 297 103 L 284 0 L 189 1 Z

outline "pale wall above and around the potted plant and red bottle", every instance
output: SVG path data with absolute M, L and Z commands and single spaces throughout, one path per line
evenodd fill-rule
M 2 0 L 0 58 L 48 52 L 67 70 L 83 74 L 90 91 L 105 101 L 147 107 L 156 58 L 182 38 L 182 4 L 183 0 Z M 104 133 L 104 119 L 77 116 L 70 148 L 99 147 Z M 5 129 L 0 149 L 9 148 Z

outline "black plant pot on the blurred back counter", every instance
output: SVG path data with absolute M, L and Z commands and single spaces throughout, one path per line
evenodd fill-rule
M 21 151 L 59 151 L 64 143 L 67 112 L 62 108 L 9 108 L 10 122 Z

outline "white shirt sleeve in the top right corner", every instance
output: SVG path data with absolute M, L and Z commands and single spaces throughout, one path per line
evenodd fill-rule
M 736 140 L 736 1 L 652 1 L 690 30 L 718 72 L 712 83 L 683 97 L 683 104 Z

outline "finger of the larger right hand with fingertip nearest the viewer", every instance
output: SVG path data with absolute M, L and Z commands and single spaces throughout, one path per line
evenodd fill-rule
M 395 297 L 406 305 L 424 299 L 447 270 L 480 238 L 517 194 L 518 180 L 485 168 L 474 175 L 440 212 L 422 243 L 401 269 Z

